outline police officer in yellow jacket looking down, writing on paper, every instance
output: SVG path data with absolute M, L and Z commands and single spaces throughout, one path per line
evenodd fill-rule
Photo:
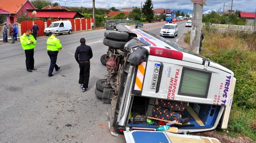
M 31 35 L 30 29 L 20 37 L 20 43 L 25 51 L 27 71 L 32 72 L 32 70 L 37 70 L 34 68 L 34 48 L 36 47 L 37 41 Z

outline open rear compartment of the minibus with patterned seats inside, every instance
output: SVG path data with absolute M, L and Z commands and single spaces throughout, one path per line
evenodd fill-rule
M 171 108 L 171 106 L 173 107 Z M 145 109 L 143 110 L 143 108 Z M 154 121 L 153 124 L 149 124 L 145 122 L 145 120 L 147 119 L 146 117 L 148 116 L 168 121 L 176 119 L 175 121 L 179 124 L 174 124 L 171 126 L 178 127 L 178 129 L 211 128 L 216 122 L 216 118 L 220 111 L 220 108 L 221 106 L 219 105 L 188 103 L 174 100 L 153 99 L 142 96 L 134 96 L 132 104 L 130 106 L 130 117 L 126 120 L 126 126 L 156 128 L 159 125 L 164 125 L 165 123 L 167 123 L 148 118 Z M 138 114 L 140 116 L 137 116 Z M 187 118 L 188 122 L 182 122 L 182 119 L 185 118 Z M 141 122 L 138 122 L 138 120 Z M 180 125 L 181 122 L 182 125 Z

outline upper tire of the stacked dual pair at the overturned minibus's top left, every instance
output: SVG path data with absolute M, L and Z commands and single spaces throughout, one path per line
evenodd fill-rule
M 126 32 L 114 31 L 114 30 L 106 30 L 104 32 L 104 36 L 109 39 L 116 40 L 126 40 L 129 38 L 129 34 Z

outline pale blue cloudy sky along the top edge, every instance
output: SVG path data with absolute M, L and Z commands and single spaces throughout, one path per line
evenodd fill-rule
M 225 10 L 231 9 L 232 0 L 207 0 L 204 5 L 203 11 L 218 10 L 221 7 L 223 11 L 223 5 L 225 2 Z M 60 5 L 68 7 L 92 7 L 92 0 L 53 0 L 58 2 Z M 140 7 L 141 0 L 95 0 L 96 8 L 128 8 L 128 7 Z M 142 0 L 142 5 L 145 0 Z M 167 8 L 167 9 L 179 9 L 179 10 L 193 10 L 193 3 L 190 0 L 152 0 L 154 9 L 155 8 Z M 230 4 L 229 4 L 230 3 Z M 255 12 L 256 0 L 233 0 L 233 10 L 241 10 L 243 12 Z

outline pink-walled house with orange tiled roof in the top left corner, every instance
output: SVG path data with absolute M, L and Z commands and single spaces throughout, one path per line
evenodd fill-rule
M 27 12 L 27 9 L 35 9 L 29 0 L 0 0 L 1 9 L 10 12 L 7 16 L 7 24 L 16 22 L 16 16 Z

